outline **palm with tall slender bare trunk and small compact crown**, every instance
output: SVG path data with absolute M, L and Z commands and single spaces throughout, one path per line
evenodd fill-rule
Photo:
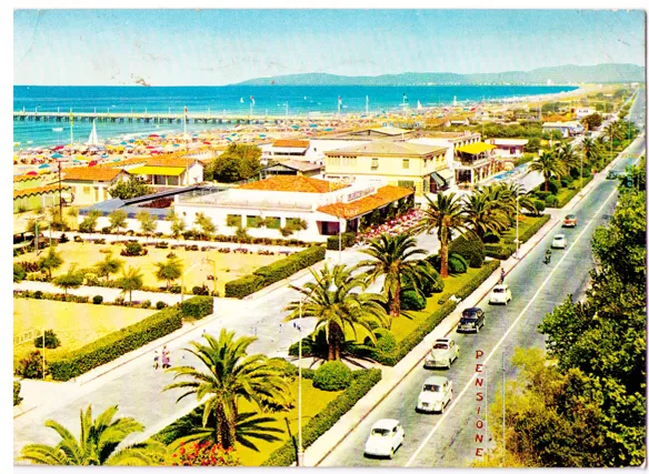
M 419 224 L 413 229 L 415 233 L 432 233 L 437 231 L 439 239 L 440 255 L 440 276 L 442 279 L 449 275 L 449 242 L 451 233 L 468 230 L 467 213 L 462 209 L 460 198 L 456 193 L 439 193 L 437 201 L 432 201 L 428 195 L 427 209 Z

